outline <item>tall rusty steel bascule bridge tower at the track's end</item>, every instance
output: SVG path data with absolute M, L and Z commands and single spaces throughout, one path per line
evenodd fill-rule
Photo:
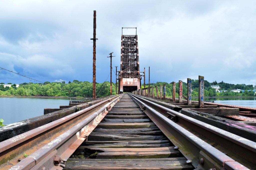
M 135 35 L 123 35 L 123 29 L 136 29 Z M 141 88 L 137 27 L 122 27 L 119 93 Z

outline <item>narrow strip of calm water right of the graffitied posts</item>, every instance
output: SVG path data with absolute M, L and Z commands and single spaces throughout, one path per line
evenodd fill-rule
M 215 103 L 232 104 L 256 108 L 256 97 L 217 97 L 205 98 L 205 100 L 214 100 Z

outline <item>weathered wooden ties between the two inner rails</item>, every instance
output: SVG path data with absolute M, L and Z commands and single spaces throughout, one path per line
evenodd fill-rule
M 128 94 L 76 153 L 65 169 L 193 169 Z

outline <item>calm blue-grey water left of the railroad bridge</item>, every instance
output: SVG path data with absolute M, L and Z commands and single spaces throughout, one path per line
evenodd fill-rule
M 7 125 L 44 115 L 44 108 L 60 108 L 61 105 L 69 105 L 69 100 L 0 97 L 0 119 Z

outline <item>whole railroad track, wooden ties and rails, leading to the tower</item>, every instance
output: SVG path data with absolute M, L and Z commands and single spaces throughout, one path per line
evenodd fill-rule
M 140 97 L 122 94 L 97 111 L 86 109 L 79 111 L 87 113 L 83 120 L 74 119 L 27 158 L 17 163 L 18 155 L 0 168 L 255 169 L 255 142 Z M 5 159 L 3 153 L 17 145 L 1 150 L 3 142 Z

